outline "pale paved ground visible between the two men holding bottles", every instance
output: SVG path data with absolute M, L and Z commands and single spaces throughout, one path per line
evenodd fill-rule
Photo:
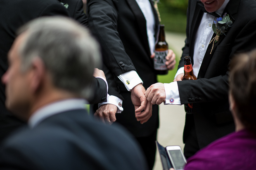
M 175 51 L 176 57 L 180 58 L 184 46 L 185 34 L 166 32 L 166 41 L 169 48 Z M 183 128 L 185 124 L 184 106 L 164 105 L 159 107 L 160 126 L 158 129 L 157 140 L 165 146 L 179 145 L 182 149 Z M 158 151 L 156 153 L 156 161 L 153 170 L 163 170 Z

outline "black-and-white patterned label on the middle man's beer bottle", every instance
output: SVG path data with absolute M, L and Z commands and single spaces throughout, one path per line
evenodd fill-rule
M 168 50 L 166 50 L 166 51 L 155 51 L 154 69 L 156 69 L 156 70 L 167 70 L 166 65 L 165 65 L 167 54 L 168 54 Z

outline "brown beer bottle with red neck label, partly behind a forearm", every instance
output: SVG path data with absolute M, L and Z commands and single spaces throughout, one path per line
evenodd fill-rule
M 192 63 L 191 63 L 191 59 L 190 56 L 186 56 L 184 58 L 184 76 L 182 78 L 182 80 L 197 80 L 197 77 L 194 75 L 193 72 L 193 67 L 192 67 Z M 193 114 L 193 105 L 188 103 L 185 104 L 185 112 L 187 114 Z

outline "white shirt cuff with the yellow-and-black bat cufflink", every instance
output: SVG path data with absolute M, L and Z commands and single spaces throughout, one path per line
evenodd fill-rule
M 123 82 L 123 84 L 126 86 L 126 89 L 128 91 L 132 90 L 133 87 L 136 85 L 142 83 L 143 81 L 140 79 L 140 76 L 137 74 L 136 71 L 128 71 L 127 73 L 120 74 L 118 78 Z

